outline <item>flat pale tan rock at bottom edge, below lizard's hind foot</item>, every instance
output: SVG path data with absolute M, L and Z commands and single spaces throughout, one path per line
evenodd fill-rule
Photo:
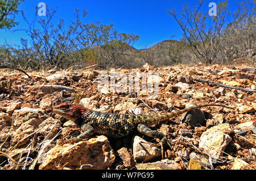
M 180 166 L 170 159 L 162 159 L 158 162 L 139 163 L 136 165 L 138 170 L 180 170 Z

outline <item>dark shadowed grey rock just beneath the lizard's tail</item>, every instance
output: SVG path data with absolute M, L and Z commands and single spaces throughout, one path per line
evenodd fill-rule
M 197 125 L 205 126 L 207 121 L 205 119 L 204 113 L 200 109 L 196 109 L 188 111 L 182 122 L 188 123 L 189 125 L 195 127 Z

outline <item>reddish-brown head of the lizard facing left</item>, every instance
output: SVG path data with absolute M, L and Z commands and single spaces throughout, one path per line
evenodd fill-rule
M 53 108 L 53 112 L 71 121 L 75 121 L 87 111 L 87 108 L 75 104 L 60 104 Z

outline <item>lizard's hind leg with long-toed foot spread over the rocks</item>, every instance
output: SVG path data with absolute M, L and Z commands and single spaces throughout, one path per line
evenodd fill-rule
M 151 146 L 161 146 L 162 158 L 163 158 L 163 145 L 167 143 L 171 148 L 171 144 L 167 141 L 166 135 L 156 130 L 152 131 L 150 128 L 148 128 L 144 124 L 139 124 L 137 129 L 138 129 L 138 132 L 142 134 L 145 134 L 149 137 L 158 138 L 160 140 L 158 144 L 152 144 Z

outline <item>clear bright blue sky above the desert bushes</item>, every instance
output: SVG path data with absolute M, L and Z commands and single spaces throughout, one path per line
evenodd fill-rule
M 119 1 L 92 1 L 92 0 L 26 0 L 20 4 L 19 9 L 23 10 L 27 19 L 31 22 L 35 14 L 35 6 L 39 2 L 46 3 L 51 9 L 56 9 L 57 13 L 54 18 L 56 23 L 59 19 L 64 19 L 68 24 L 70 20 L 75 19 L 73 13 L 75 9 L 85 9 L 89 11 L 84 19 L 85 22 L 100 22 L 101 24 L 114 24 L 114 29 L 119 32 L 133 33 L 139 36 L 139 40 L 133 45 L 134 48 L 142 49 L 151 47 L 163 40 L 175 39 L 182 37 L 182 32 L 175 22 L 174 18 L 167 12 L 168 9 L 175 8 L 179 12 L 184 3 L 189 7 L 196 6 L 196 0 L 119 0 Z M 218 4 L 221 1 L 205 0 L 202 10 L 207 12 L 210 2 Z M 229 0 L 229 7 L 236 9 L 236 3 L 240 1 Z M 20 44 L 20 38 L 27 39 L 23 31 L 15 31 L 27 28 L 21 15 L 16 16 L 19 25 L 11 30 L 0 30 L 0 45 L 7 40 L 9 44 Z M 172 37 L 172 35 L 175 35 Z

